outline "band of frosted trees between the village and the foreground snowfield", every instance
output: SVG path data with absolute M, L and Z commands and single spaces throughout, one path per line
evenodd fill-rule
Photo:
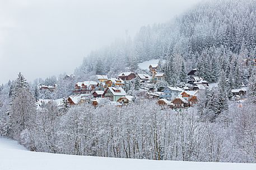
M 184 110 L 164 108 L 143 96 L 123 107 L 83 104 L 60 109 L 55 103 L 36 108 L 35 96 L 19 74 L 9 105 L 4 106 L 7 112 L 0 107 L 0 134 L 37 152 L 256 163 L 253 77 L 242 107 L 225 101 L 229 105 L 221 108 L 223 104 L 215 102 L 216 94 L 206 100 L 202 97 L 206 91 L 201 91 L 198 107 Z M 219 88 L 221 93 L 223 88 Z

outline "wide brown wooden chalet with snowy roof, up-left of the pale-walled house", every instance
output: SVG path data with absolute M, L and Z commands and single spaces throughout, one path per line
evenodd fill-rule
M 75 90 L 73 90 L 73 93 L 74 94 L 91 94 L 94 92 L 94 89 L 98 85 L 99 83 L 97 83 L 96 81 L 77 82 L 75 85 Z

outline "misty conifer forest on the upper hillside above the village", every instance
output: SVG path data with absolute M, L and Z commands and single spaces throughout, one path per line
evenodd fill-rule
M 179 55 L 186 72 L 204 66 L 207 70 L 201 75 L 216 82 L 220 76 L 216 70 L 222 64 L 237 60 L 240 65 L 255 59 L 255 10 L 253 0 L 203 1 L 173 21 L 143 26 L 134 38 L 91 52 L 76 75 L 87 79 L 93 74 L 116 76 L 125 70 L 138 70 L 139 62 Z M 239 67 L 241 74 L 248 74 L 248 69 Z

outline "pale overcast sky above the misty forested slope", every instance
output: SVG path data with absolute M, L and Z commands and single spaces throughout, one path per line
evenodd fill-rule
M 0 0 L 0 83 L 22 72 L 71 74 L 83 57 L 125 30 L 169 21 L 199 0 Z

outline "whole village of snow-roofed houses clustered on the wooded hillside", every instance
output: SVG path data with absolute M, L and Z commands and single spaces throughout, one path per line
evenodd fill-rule
M 72 95 L 57 100 L 39 99 L 38 106 L 41 108 L 46 103 L 55 102 L 59 107 L 90 103 L 94 106 L 99 104 L 111 104 L 125 106 L 138 102 L 136 95 L 128 95 L 128 86 L 133 86 L 141 95 L 139 99 L 154 99 L 159 105 L 171 109 L 189 108 L 198 103 L 198 92 L 212 88 L 202 77 L 197 76 L 197 69 L 188 72 L 188 82 L 181 87 L 154 85 L 165 80 L 165 74 L 157 72 L 158 65 L 151 64 L 148 67 L 150 74 L 138 74 L 134 72 L 122 72 L 117 77 L 109 78 L 106 75 L 96 75 L 97 81 L 77 82 L 74 85 Z M 66 75 L 64 79 L 73 79 L 75 75 Z M 213 87 L 214 88 L 214 87 Z M 39 85 L 39 90 L 49 90 L 53 93 L 56 85 Z M 245 99 L 247 87 L 232 89 L 234 100 Z

